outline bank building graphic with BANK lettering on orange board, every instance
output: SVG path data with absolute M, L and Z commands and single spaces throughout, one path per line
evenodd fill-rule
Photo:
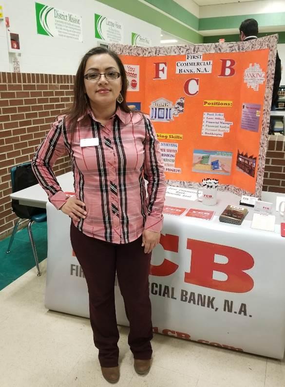
M 184 111 L 185 97 L 177 99 L 175 105 L 166 98 L 158 98 L 152 101 L 150 105 L 150 116 L 152 121 L 169 122 L 173 121 L 174 117 Z

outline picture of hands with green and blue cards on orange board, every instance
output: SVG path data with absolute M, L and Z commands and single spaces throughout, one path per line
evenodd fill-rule
M 193 172 L 230 175 L 232 152 L 217 150 L 193 151 Z

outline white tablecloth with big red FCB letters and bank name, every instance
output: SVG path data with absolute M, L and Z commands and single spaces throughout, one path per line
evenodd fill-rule
M 264 200 L 275 197 L 263 193 Z M 167 198 L 167 204 L 214 209 L 215 216 L 205 221 L 165 215 L 150 275 L 154 331 L 283 358 L 285 239 L 280 236 L 280 215 L 275 232 L 266 232 L 250 228 L 251 208 L 241 226 L 219 222 L 227 204 L 239 204 L 234 194 L 218 192 L 214 207 L 175 198 Z M 50 203 L 47 216 L 45 305 L 88 317 L 87 286 L 72 253 L 70 219 Z M 117 284 L 115 298 L 117 322 L 128 325 Z

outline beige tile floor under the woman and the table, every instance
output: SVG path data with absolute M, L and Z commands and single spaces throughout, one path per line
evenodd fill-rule
M 110 386 L 101 376 L 89 320 L 44 307 L 33 268 L 0 291 L 1 387 Z M 150 373 L 139 376 L 120 331 L 122 387 L 285 387 L 285 362 L 155 334 Z

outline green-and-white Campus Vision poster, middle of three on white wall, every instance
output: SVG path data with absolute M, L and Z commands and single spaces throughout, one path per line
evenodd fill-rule
M 95 38 L 110 43 L 123 43 L 123 24 L 117 20 L 95 14 Z

